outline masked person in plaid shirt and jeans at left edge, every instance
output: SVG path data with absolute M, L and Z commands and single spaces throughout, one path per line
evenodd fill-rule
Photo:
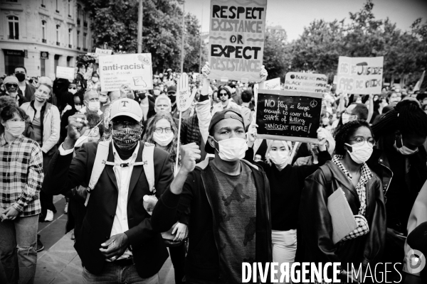
M 6 283 L 33 283 L 37 263 L 39 194 L 43 155 L 36 141 L 22 135 L 26 114 L 19 107 L 0 113 L 0 256 Z M 18 249 L 17 249 L 18 248 Z

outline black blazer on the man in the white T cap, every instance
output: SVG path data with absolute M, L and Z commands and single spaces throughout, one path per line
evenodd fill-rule
M 137 162 L 142 161 L 141 144 Z M 53 195 L 67 192 L 78 185 L 87 186 L 90 181 L 97 143 L 84 143 L 73 158 L 73 153 L 53 155 L 48 169 L 45 171 L 43 191 Z M 108 161 L 113 162 L 112 145 Z M 149 278 L 159 272 L 169 254 L 162 241 L 162 235 L 152 229 L 151 217 L 145 211 L 142 201 L 144 195 L 150 195 L 147 178 L 142 165 L 134 166 L 130 178 L 129 194 L 127 197 L 127 223 L 129 230 L 125 231 L 133 253 L 134 263 L 141 278 Z M 154 174 L 156 196 L 169 188 L 174 175 L 169 153 L 154 148 Z M 75 250 L 80 256 L 83 266 L 90 273 L 101 273 L 105 257 L 100 253 L 100 245 L 110 238 L 112 223 L 117 209 L 117 180 L 111 165 L 106 165 L 100 175 L 95 189 L 90 195 L 83 226 L 79 238 L 75 242 Z

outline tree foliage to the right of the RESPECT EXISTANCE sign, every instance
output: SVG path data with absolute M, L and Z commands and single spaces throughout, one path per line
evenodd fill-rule
M 374 4 L 368 0 L 357 13 L 349 13 L 349 23 L 315 20 L 295 40 L 292 69 L 312 70 L 332 81 L 339 56 L 384 56 L 384 78 L 413 83 L 427 67 L 427 23 L 417 19 L 411 31 L 402 32 L 389 18 L 377 20 Z

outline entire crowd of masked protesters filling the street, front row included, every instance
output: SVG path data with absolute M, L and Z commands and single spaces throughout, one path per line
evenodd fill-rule
M 253 283 L 291 283 L 282 275 L 305 262 L 341 263 L 342 283 L 383 283 L 384 271 L 391 282 L 426 283 L 427 271 L 406 268 L 408 251 L 427 253 L 425 90 L 357 94 L 325 83 L 307 93 L 317 115 L 301 108 L 317 119 L 310 130 L 278 121 L 280 104 L 268 111 L 263 98 L 292 91 L 283 81 L 270 88 L 263 65 L 257 80 L 212 79 L 206 62 L 200 74 L 167 69 L 152 88 L 110 91 L 101 67 L 78 62 L 69 80 L 16 66 L 0 78 L 7 283 L 34 283 L 38 223 L 58 210 L 84 283 L 159 283 L 169 256 L 177 284 L 243 283 L 242 263 L 288 263 Z M 270 119 L 308 134 L 280 138 Z

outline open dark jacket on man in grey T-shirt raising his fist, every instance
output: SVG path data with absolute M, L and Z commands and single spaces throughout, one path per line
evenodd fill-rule
M 189 208 L 189 252 L 186 256 L 186 275 L 224 283 L 220 275 L 217 204 L 217 185 L 209 160 L 197 164 L 189 174 L 181 195 L 167 190 L 157 202 L 152 214 L 153 229 L 167 231 L 176 222 L 176 211 Z M 244 161 L 245 163 L 248 163 Z M 257 190 L 256 197 L 256 260 L 273 261 L 270 217 L 270 187 L 264 171 L 250 167 Z M 257 167 L 258 168 L 258 167 Z

